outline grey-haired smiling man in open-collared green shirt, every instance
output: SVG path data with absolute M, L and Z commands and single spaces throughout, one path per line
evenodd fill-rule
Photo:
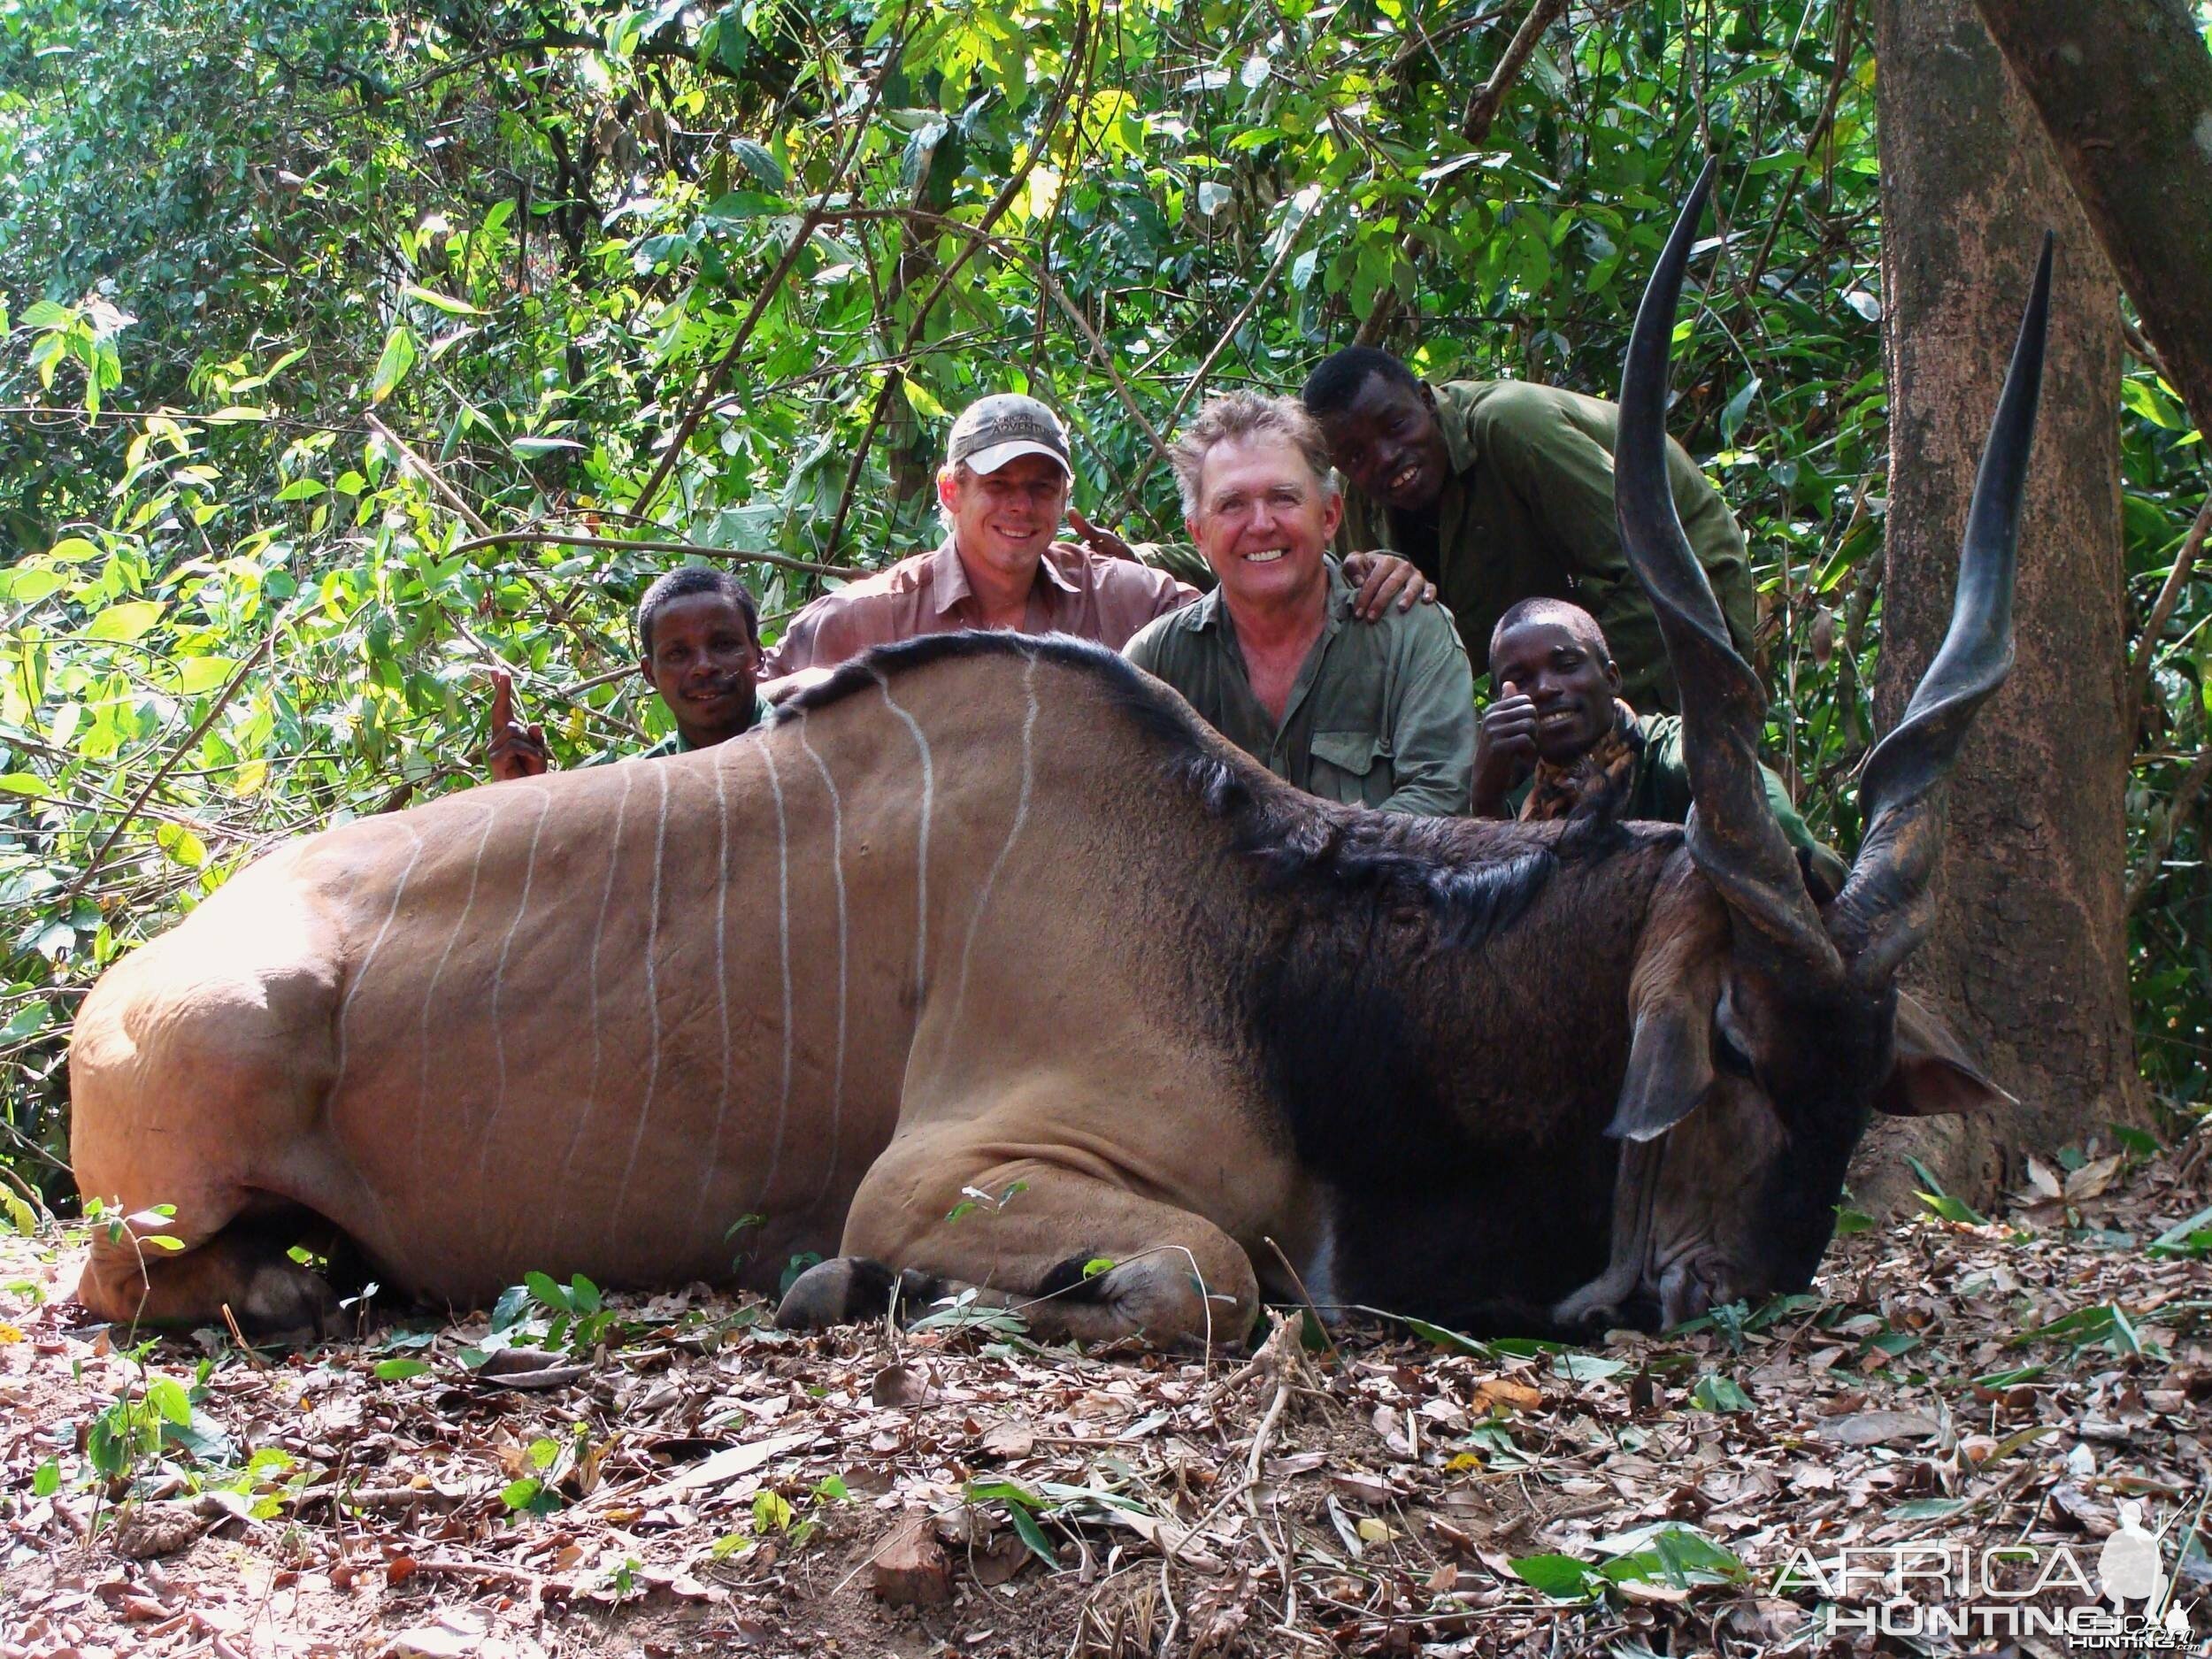
M 1237 392 L 1199 411 L 1170 458 L 1183 522 L 1219 586 L 1150 622 L 1124 655 L 1225 739 L 1310 794 L 1464 814 L 1473 670 L 1440 606 L 1354 624 L 1327 557 L 1343 515 L 1327 445 L 1290 398 Z

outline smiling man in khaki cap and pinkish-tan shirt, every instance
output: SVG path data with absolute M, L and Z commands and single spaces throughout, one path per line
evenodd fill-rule
M 1060 416 L 1013 392 L 978 398 L 953 422 L 938 469 L 945 540 L 931 553 L 814 599 L 768 650 L 763 681 L 836 668 L 869 646 L 956 628 L 1073 633 L 1119 650 L 1152 617 L 1199 597 L 1190 584 L 1135 557 L 1055 542 L 1073 478 Z M 1378 608 L 1407 584 L 1427 586 L 1402 560 L 1376 562 L 1387 566 Z M 1396 580 L 1389 566 L 1400 566 Z M 1369 588 L 1376 588 L 1371 577 Z M 770 697 L 792 688 L 763 686 Z

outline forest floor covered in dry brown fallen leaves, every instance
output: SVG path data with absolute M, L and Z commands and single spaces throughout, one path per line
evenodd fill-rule
M 504 1329 L 133 1352 L 82 1239 L 13 1239 L 0 1655 L 2055 1655 L 2148 1579 L 2201 1652 L 2208 1150 L 2093 1146 L 1577 1352 L 1294 1316 L 1201 1365 L 549 1281 Z

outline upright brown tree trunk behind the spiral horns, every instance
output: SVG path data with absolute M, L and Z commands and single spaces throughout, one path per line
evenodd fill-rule
M 2119 292 L 1971 0 L 1876 7 L 1889 526 L 1887 730 L 1951 617 L 1975 458 L 2057 230 L 2042 425 L 2020 529 L 2011 681 L 1951 779 L 1940 920 L 1907 982 L 2020 1095 L 2002 1119 L 1889 1124 L 1854 1190 L 1893 1203 L 1911 1150 L 1989 1194 L 2008 1155 L 2141 1121 L 2128 1015 L 2128 732 L 2119 520 Z

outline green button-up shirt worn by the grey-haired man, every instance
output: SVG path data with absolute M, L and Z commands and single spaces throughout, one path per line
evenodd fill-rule
M 1159 617 L 1124 655 L 1175 686 L 1230 743 L 1285 783 L 1347 805 L 1444 818 L 1475 787 L 1475 677 L 1442 606 L 1352 617 L 1336 560 L 1321 639 L 1281 723 L 1252 692 L 1221 591 Z

